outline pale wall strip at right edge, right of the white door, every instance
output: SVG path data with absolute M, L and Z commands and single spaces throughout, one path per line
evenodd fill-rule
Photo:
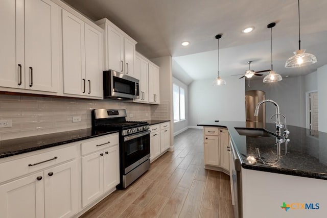
M 327 65 L 324 65 L 317 70 L 318 78 L 318 123 L 319 131 L 327 132 Z

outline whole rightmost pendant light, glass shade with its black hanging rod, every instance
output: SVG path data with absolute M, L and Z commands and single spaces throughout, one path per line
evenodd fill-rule
M 317 62 L 316 56 L 306 53 L 305 49 L 301 49 L 300 39 L 300 0 L 298 0 L 298 50 L 294 52 L 294 56 L 290 57 L 286 63 L 286 68 L 301 67 L 311 65 Z

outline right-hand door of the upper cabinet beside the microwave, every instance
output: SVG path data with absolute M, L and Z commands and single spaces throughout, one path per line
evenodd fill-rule
M 86 95 L 103 96 L 102 33 L 85 23 Z

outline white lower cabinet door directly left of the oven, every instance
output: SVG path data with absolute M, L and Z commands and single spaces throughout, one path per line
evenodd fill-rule
M 103 156 L 104 192 L 120 183 L 119 173 L 119 146 L 105 149 Z

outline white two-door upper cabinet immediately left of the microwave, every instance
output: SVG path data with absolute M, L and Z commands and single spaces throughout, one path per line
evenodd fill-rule
M 62 10 L 63 92 L 103 98 L 102 32 Z

